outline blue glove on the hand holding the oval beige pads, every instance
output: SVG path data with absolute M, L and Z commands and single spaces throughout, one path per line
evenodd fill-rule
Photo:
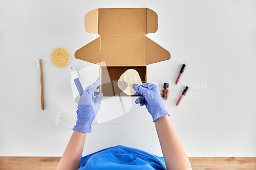
M 140 106 L 146 106 L 146 109 L 153 118 L 153 122 L 159 117 L 170 115 L 164 107 L 157 85 L 152 83 L 142 83 L 142 85 L 133 84 L 133 88 L 141 94 L 135 103 L 140 104 Z

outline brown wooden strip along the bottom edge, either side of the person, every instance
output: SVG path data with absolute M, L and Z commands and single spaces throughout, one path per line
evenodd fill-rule
M 60 157 L 0 157 L 1 170 L 52 170 L 56 169 Z M 256 169 L 256 157 L 189 157 L 194 170 L 210 170 L 210 169 Z M 218 166 L 219 163 L 219 167 Z M 225 163 L 225 165 L 224 165 Z M 236 163 L 236 164 L 234 164 Z M 205 167 L 207 164 L 208 167 Z M 223 167 L 221 167 L 223 164 Z M 228 168 L 229 164 L 229 168 Z M 238 167 L 240 165 L 240 168 Z M 248 167 L 243 168 L 242 166 Z M 201 166 L 196 168 L 196 166 Z M 216 168 L 211 168 L 212 166 Z M 237 167 L 231 168 L 236 165 Z M 211 167 L 210 167 L 211 166 Z M 252 167 L 254 166 L 254 167 Z

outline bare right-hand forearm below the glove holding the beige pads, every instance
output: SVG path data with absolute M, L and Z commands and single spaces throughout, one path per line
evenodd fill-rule
M 173 125 L 167 115 L 155 120 L 157 135 L 163 152 L 167 169 L 191 169 L 188 168 L 188 157 L 174 131 Z

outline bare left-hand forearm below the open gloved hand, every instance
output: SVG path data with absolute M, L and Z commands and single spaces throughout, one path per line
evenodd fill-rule
M 76 130 L 73 132 L 67 148 L 59 161 L 57 170 L 78 169 L 80 167 L 85 139 L 86 133 L 82 133 Z

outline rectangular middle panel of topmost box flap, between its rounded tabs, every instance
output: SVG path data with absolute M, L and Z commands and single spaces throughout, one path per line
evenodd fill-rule
M 100 36 L 145 36 L 146 8 L 100 8 Z

